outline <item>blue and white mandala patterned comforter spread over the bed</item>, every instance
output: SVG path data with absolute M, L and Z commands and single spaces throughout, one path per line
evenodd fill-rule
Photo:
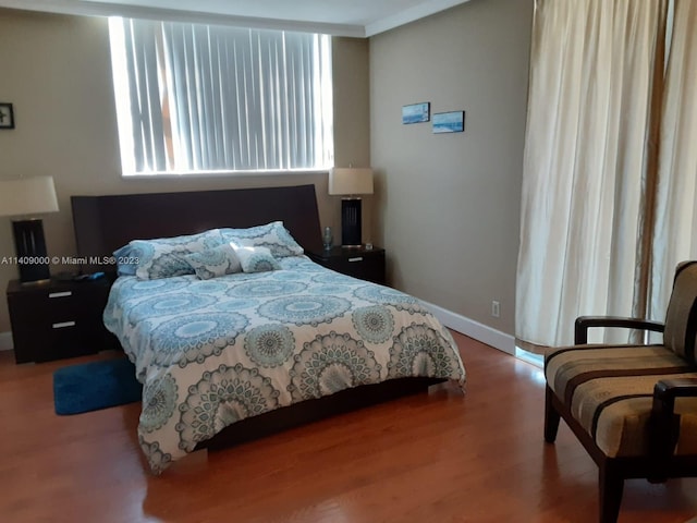
M 348 387 L 464 384 L 452 337 L 415 297 L 305 256 L 281 266 L 114 282 L 103 319 L 144 384 L 138 438 L 152 472 L 239 419 Z

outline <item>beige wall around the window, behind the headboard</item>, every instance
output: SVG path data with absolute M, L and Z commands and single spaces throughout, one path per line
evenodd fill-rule
M 369 163 L 368 42 L 334 40 L 337 161 Z M 44 227 L 51 256 L 75 254 L 70 196 L 314 183 L 322 226 L 338 227 L 327 174 L 123 180 L 120 173 L 106 19 L 0 10 L 0 101 L 14 105 L 16 129 L 0 131 L 0 180 L 51 174 L 60 212 Z M 338 163 L 341 165 L 341 163 Z M 9 218 L 0 218 L 0 259 L 14 256 Z M 52 267 L 52 271 L 65 267 Z M 17 278 L 0 265 L 0 288 Z M 4 292 L 3 292 L 4 294 Z M 0 331 L 10 329 L 0 300 Z

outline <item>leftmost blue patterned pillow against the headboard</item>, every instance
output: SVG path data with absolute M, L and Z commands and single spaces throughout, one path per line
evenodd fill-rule
M 133 257 L 138 259 L 135 276 L 140 280 L 156 280 L 193 275 L 194 268 L 184 256 L 217 247 L 222 243 L 220 230 L 211 229 L 186 236 L 133 240 L 129 245 Z

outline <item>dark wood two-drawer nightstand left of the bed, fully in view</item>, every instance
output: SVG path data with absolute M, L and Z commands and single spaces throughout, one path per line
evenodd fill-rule
M 16 363 L 48 362 L 118 349 L 102 323 L 111 281 L 8 284 L 8 308 Z

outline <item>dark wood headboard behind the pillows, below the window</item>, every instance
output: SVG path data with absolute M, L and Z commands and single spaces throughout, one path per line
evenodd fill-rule
M 72 196 L 78 256 L 110 256 L 131 240 L 282 220 L 306 251 L 321 248 L 315 185 Z M 83 270 L 115 270 L 85 264 Z

